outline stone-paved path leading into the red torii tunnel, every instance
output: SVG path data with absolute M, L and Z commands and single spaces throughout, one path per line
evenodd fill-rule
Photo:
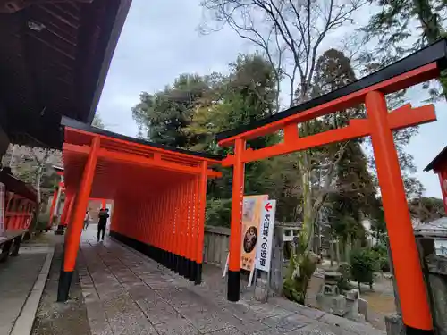
M 384 334 L 280 297 L 229 303 L 217 276 L 205 273 L 194 286 L 117 241 L 97 243 L 94 233 L 83 233 L 78 264 L 92 335 Z

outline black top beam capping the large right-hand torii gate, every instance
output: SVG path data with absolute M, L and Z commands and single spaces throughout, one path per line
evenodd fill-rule
M 393 77 L 401 75 L 402 73 L 409 72 L 418 69 L 429 63 L 438 63 L 441 70 L 447 68 L 447 39 L 441 39 L 430 46 L 417 51 L 414 54 L 402 58 L 396 63 L 385 67 L 380 71 L 375 71 L 360 80 L 356 80 L 349 85 L 342 88 L 338 88 L 333 92 L 327 93 L 324 96 L 318 96 L 315 99 L 309 100 L 303 104 L 291 107 L 281 113 L 276 113 L 268 118 L 254 121 L 247 125 L 241 126 L 233 130 L 227 130 L 220 132 L 216 135 L 217 141 L 221 141 L 226 138 L 232 138 L 233 136 L 240 135 L 249 130 L 255 130 L 259 127 L 265 126 L 268 123 L 282 120 L 293 114 L 307 111 L 310 108 L 317 105 L 323 105 L 327 102 L 333 101 L 342 96 L 348 96 L 351 93 L 357 92 L 361 89 L 368 88 L 375 84 L 378 84 L 384 80 L 390 80 Z

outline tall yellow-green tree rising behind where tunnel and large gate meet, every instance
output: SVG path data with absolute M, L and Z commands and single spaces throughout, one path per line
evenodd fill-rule
M 202 96 L 192 115 L 192 121 L 183 131 L 201 138 L 193 148 L 227 154 L 227 149 L 216 146 L 215 133 L 271 115 L 275 110 L 275 80 L 270 63 L 258 54 L 242 54 L 230 64 L 230 74 L 220 78 L 220 85 Z M 248 147 L 266 147 L 278 140 L 274 136 L 257 138 Z M 246 166 L 246 193 L 265 193 L 270 179 L 267 163 L 255 162 Z M 213 180 L 212 197 L 232 197 L 232 172 L 223 169 L 223 178 Z

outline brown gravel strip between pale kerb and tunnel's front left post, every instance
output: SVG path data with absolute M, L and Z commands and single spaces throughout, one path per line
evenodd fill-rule
M 45 234 L 45 239 L 55 243 L 55 256 L 51 264 L 46 286 L 40 299 L 38 313 L 34 321 L 32 335 L 90 335 L 87 309 L 80 289 L 78 273 L 72 277 L 71 299 L 57 303 L 57 282 L 63 257 L 63 236 L 55 236 L 53 231 Z

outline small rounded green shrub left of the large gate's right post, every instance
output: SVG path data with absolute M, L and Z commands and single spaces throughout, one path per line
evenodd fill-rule
M 372 288 L 377 268 L 377 255 L 372 249 L 356 249 L 350 253 L 350 274 L 358 282 L 358 289 L 360 283 L 367 283 Z

